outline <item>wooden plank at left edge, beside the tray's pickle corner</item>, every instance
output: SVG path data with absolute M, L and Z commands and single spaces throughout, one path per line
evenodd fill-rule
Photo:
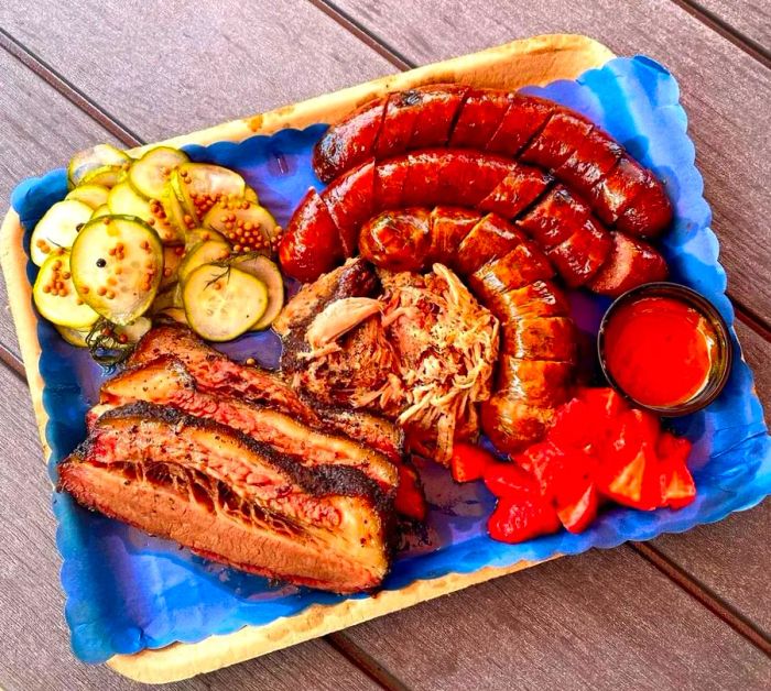
M 22 179 L 65 165 L 73 151 L 109 134 L 75 106 L 0 50 L 0 207 Z M 0 343 L 19 355 L 8 310 L 6 282 L 0 281 Z M 29 395 L 24 395 L 26 399 Z

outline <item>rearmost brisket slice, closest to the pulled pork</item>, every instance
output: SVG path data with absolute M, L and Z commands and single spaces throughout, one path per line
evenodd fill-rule
M 402 458 L 403 434 L 393 423 L 371 413 L 310 402 L 279 374 L 229 360 L 185 327 L 160 326 L 149 331 L 134 349 L 129 365 L 146 364 L 161 355 L 177 358 L 200 391 L 265 404 L 296 416 L 312 427 L 341 432 L 380 451 L 392 461 L 398 462 Z

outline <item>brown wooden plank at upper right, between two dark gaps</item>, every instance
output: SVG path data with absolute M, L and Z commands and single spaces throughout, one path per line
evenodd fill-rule
M 601 40 L 618 55 L 644 53 L 677 77 L 705 177 L 731 293 L 771 315 L 769 177 L 771 72 L 669 0 L 490 3 L 436 11 L 419 0 L 336 3 L 414 63 L 560 31 Z

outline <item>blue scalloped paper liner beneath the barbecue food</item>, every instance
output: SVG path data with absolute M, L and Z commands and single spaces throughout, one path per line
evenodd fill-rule
M 662 242 L 672 279 L 704 294 L 729 325 L 734 311 L 725 296 L 726 274 L 718 262 L 718 242 L 709 228 L 702 176 L 694 165 L 694 145 L 678 102 L 674 77 L 647 57 L 617 58 L 576 80 L 556 81 L 523 91 L 575 108 L 619 140 L 639 161 L 666 182 L 675 222 Z M 186 146 L 195 161 L 238 169 L 285 224 L 308 186 L 322 188 L 311 167 L 314 143 L 326 125 L 282 130 L 241 143 Z M 66 194 L 63 169 L 28 179 L 14 190 L 13 209 L 29 237 L 45 210 Z M 36 267 L 28 262 L 28 277 Z M 574 316 L 582 329 L 596 332 L 607 300 L 575 293 Z M 739 344 L 731 326 L 734 346 Z M 39 320 L 43 405 L 48 415 L 45 437 L 51 447 L 50 473 L 85 437 L 84 416 L 97 401 L 106 373 L 82 350 L 67 346 L 45 320 Z M 275 365 L 278 340 L 268 333 L 248 336 L 224 348 L 236 358 L 256 357 Z M 752 374 L 736 358 L 728 385 L 707 409 L 673 423 L 694 442 L 689 465 L 696 501 L 677 512 L 612 508 L 582 535 L 562 531 L 520 545 L 487 537 L 485 518 L 493 500 L 480 483 L 455 485 L 436 465 L 421 465 L 431 512 L 430 541 L 400 553 L 383 584 L 387 591 L 446 574 L 468 574 L 485 567 L 508 568 L 593 547 L 610 548 L 626 540 L 647 540 L 719 520 L 758 504 L 771 491 L 771 438 Z M 68 495 L 54 495 L 57 545 L 64 560 L 62 584 L 73 648 L 86 662 L 117 654 L 156 649 L 175 641 L 194 643 L 229 634 L 247 625 L 264 625 L 313 604 L 344 597 L 310 589 L 270 584 L 267 580 L 208 562 L 178 546 L 91 514 Z M 366 595 L 358 596 L 367 597 Z

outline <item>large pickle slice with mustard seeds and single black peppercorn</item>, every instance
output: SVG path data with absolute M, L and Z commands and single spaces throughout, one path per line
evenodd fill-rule
M 163 274 L 163 245 L 143 221 L 108 216 L 83 227 L 70 265 L 78 295 L 102 317 L 126 326 L 152 304 Z

